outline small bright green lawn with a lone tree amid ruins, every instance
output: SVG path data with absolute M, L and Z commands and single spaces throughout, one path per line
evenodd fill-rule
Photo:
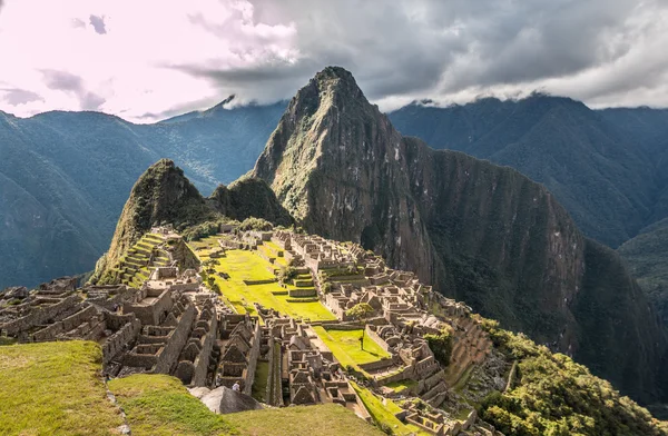
M 320 326 L 315 326 L 313 329 L 344 367 L 353 366 L 358 369 L 358 365 L 376 361 L 383 357 L 391 357 L 369 336 L 364 337 L 364 349 L 360 348 L 362 329 L 325 330 Z

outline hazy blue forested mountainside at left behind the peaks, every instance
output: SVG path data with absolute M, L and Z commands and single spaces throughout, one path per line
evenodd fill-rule
M 204 192 L 248 171 L 285 103 L 228 100 L 156 125 L 0 112 L 0 288 L 91 270 L 132 184 L 159 158 L 176 159 Z

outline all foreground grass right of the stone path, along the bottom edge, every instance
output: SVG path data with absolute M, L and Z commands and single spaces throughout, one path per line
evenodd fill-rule
M 127 414 L 132 435 L 382 435 L 338 405 L 289 407 L 215 415 L 180 382 L 164 375 L 134 375 L 109 383 Z

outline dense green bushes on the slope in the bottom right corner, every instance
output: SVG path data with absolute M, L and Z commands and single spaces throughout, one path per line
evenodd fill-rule
M 494 344 L 518 359 L 508 392 L 494 393 L 480 407 L 483 419 L 507 435 L 668 435 L 666 423 L 561 354 L 551 354 L 522 335 L 484 320 Z

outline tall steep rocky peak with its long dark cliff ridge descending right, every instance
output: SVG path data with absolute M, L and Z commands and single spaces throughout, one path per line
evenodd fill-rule
M 298 91 L 252 175 L 310 232 L 361 242 L 636 398 L 660 396 L 666 335 L 619 258 L 593 249 L 541 185 L 403 138 L 350 72 L 326 68 Z M 607 310 L 615 301 L 628 310 Z

